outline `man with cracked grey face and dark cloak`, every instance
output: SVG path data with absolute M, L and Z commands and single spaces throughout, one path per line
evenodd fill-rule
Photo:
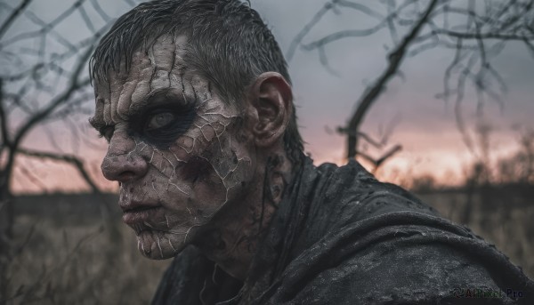
M 404 190 L 355 161 L 312 165 L 286 62 L 246 4 L 141 4 L 91 68 L 91 124 L 109 141 L 102 173 L 120 184 L 140 251 L 174 257 L 154 303 L 473 301 L 467 288 L 498 293 L 475 301 L 534 297 L 503 254 Z

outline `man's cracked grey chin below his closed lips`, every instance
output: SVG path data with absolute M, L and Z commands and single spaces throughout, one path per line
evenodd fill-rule
M 166 260 L 181 253 L 186 244 L 183 238 L 172 233 L 143 230 L 137 236 L 137 249 L 151 260 Z

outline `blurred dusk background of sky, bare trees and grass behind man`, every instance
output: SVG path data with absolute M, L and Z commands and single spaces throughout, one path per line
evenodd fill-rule
M 87 123 L 87 60 L 137 3 L 0 1 L 0 303 L 146 303 L 169 263 L 137 253 Z M 534 277 L 534 1 L 251 5 L 316 165 L 357 157 Z

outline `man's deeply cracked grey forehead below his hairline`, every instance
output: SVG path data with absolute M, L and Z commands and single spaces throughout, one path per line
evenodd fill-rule
M 159 93 L 182 95 L 182 100 L 206 99 L 209 83 L 184 61 L 186 36 L 164 35 L 146 49 L 134 52 L 126 70 L 109 71 L 109 82 L 96 82 L 96 124 L 117 124 L 150 103 Z

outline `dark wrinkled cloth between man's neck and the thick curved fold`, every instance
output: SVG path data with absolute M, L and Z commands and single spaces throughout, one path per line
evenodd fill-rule
M 309 216 L 325 232 L 387 213 L 439 216 L 409 191 L 377 181 L 356 161 L 339 167 L 324 164 L 316 171 Z

